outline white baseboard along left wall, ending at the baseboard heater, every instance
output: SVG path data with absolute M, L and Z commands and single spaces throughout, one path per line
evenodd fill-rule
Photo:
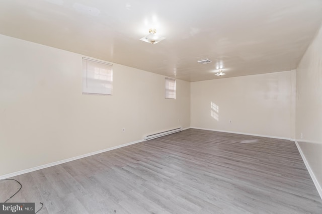
M 37 170 L 40 170 L 40 169 L 44 169 L 44 168 L 47 168 L 47 167 L 56 166 L 56 165 L 59 165 L 59 164 L 62 164 L 62 163 L 66 163 L 66 162 L 81 159 L 81 158 L 86 158 L 86 157 L 89 157 L 89 156 L 92 156 L 92 155 L 96 155 L 96 154 L 99 154 L 99 153 L 111 151 L 111 150 L 114 150 L 114 149 L 118 149 L 118 148 L 129 146 L 129 145 L 132 145 L 132 144 L 140 143 L 140 142 L 143 142 L 143 141 L 144 141 L 143 139 L 138 140 L 138 141 L 133 141 L 133 142 L 130 142 L 130 143 L 119 145 L 119 146 L 114 146 L 114 147 L 111 147 L 111 148 L 107 148 L 107 149 L 87 153 L 87 154 L 84 154 L 84 155 L 79 155 L 79 156 L 76 156 L 76 157 L 73 157 L 73 158 L 67 158 L 67 159 L 64 159 L 64 160 L 61 160 L 61 161 L 56 161 L 56 162 L 53 162 L 53 163 L 48 163 L 48 164 L 45 164 L 45 165 L 36 166 L 36 167 L 33 167 L 33 168 L 29 168 L 29 169 L 24 169 L 24 170 L 21 170 L 21 171 L 18 171 L 18 172 L 5 174 L 5 175 L 0 176 L 0 179 L 6 179 L 6 178 L 14 177 L 14 176 L 17 176 L 17 175 L 22 175 L 22 174 L 25 174 L 25 173 L 28 173 L 28 172 L 33 172 L 33 171 L 37 171 Z

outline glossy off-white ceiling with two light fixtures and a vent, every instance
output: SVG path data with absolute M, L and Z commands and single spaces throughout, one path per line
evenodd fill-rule
M 296 69 L 321 21 L 321 0 L 0 2 L 0 34 L 187 81 Z

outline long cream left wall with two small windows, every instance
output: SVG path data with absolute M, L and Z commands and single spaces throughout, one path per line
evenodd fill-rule
M 113 63 L 113 95 L 83 95 L 82 57 L 0 35 L 0 176 L 190 127 L 189 82 L 165 99 L 164 76 Z

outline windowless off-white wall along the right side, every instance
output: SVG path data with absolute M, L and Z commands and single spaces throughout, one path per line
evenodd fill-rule
M 296 141 L 321 187 L 322 28 L 296 69 Z

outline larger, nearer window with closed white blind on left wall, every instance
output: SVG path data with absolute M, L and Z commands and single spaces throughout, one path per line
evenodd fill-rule
M 83 94 L 112 94 L 112 65 L 83 58 Z

